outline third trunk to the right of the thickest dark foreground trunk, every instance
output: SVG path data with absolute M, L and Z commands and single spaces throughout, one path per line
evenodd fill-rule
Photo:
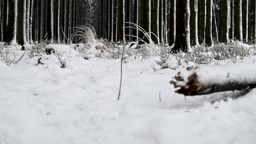
M 206 0 L 206 21 L 205 24 L 205 44 L 213 45 L 212 37 L 212 17 L 213 17 L 213 0 Z

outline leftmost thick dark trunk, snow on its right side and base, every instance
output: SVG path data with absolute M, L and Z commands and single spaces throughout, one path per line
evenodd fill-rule
M 17 0 L 8 0 L 8 23 L 5 45 L 15 45 L 17 30 Z

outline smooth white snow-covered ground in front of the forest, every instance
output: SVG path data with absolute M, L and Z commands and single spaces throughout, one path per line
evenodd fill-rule
M 117 101 L 120 59 L 85 60 L 73 49 L 68 59 L 69 46 L 55 47 L 66 51 L 65 69 L 54 55 L 0 62 L 0 144 L 256 143 L 256 89 L 184 98 L 169 84 L 179 69 L 131 59 Z

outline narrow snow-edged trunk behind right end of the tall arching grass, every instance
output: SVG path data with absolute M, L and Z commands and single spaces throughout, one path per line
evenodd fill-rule
M 151 35 L 151 39 L 154 41 L 154 42 L 158 42 L 158 0 L 153 0 L 153 17 L 152 17 L 152 20 L 153 20 L 153 26 L 152 26 L 152 32 L 155 34 L 155 35 Z

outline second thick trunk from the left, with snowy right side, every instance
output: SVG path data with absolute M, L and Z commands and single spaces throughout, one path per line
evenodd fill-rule
M 18 42 L 23 46 L 26 43 L 26 0 L 19 1 Z

